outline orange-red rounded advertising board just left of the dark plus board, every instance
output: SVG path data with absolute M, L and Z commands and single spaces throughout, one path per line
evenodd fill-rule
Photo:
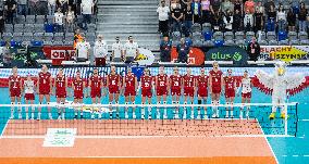
M 171 51 L 171 60 L 176 62 L 178 59 L 178 53 L 176 48 L 172 48 Z M 188 64 L 190 65 L 202 65 L 205 62 L 205 53 L 199 48 L 190 48 L 189 56 L 188 56 Z

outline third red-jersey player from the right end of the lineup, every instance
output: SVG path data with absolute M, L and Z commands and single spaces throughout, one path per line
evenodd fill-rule
M 196 78 L 196 86 L 197 86 L 197 94 L 198 94 L 198 104 L 201 104 L 201 102 L 203 104 L 207 103 L 207 96 L 208 96 L 208 76 L 205 74 L 205 68 L 200 70 L 200 75 Z M 205 110 L 205 114 L 207 117 L 207 108 L 203 108 Z M 198 113 L 200 113 L 200 108 L 198 108 Z M 199 114 L 198 114 L 199 115 Z M 200 115 L 201 117 L 201 115 Z

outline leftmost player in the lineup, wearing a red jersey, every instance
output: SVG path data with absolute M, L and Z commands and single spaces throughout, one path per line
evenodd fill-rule
M 22 77 L 17 74 L 17 67 L 12 68 L 12 75 L 9 77 L 9 91 L 11 97 L 11 119 L 14 118 L 14 104 L 21 104 L 22 98 Z M 18 106 L 18 118 L 22 117 L 22 108 Z

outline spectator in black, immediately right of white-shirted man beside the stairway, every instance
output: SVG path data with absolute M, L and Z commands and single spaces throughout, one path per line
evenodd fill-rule
M 175 7 L 171 7 L 173 29 L 172 31 L 182 31 L 182 21 L 184 17 L 182 5 L 176 1 Z

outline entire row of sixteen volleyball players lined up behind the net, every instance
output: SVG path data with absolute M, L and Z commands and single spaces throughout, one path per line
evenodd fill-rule
M 158 104 L 166 104 L 166 97 L 170 94 L 172 97 L 173 104 L 180 104 L 180 97 L 184 96 L 184 104 L 193 104 L 194 98 L 197 96 L 198 104 L 206 104 L 207 98 L 211 96 L 212 104 L 212 117 L 219 117 L 219 104 L 220 97 L 224 93 L 226 105 L 225 117 L 234 116 L 233 114 L 233 103 L 238 92 L 242 92 L 242 103 L 250 103 L 251 99 L 251 80 L 248 76 L 248 72 L 244 72 L 242 83 L 239 87 L 236 85 L 236 79 L 232 75 L 232 70 L 227 71 L 227 75 L 223 76 L 222 71 L 219 68 L 217 62 L 213 63 L 212 70 L 209 74 L 206 74 L 205 68 L 200 68 L 200 74 L 198 76 L 191 75 L 191 70 L 188 67 L 185 75 L 180 75 L 178 68 L 173 68 L 173 74 L 171 76 L 164 73 L 164 67 L 160 66 L 159 74 L 156 76 L 150 75 L 148 68 L 144 70 L 144 74 L 140 80 L 137 80 L 136 75 L 132 73 L 128 67 L 127 73 L 122 77 L 116 73 L 115 66 L 111 66 L 111 72 L 106 77 L 99 75 L 98 70 L 94 70 L 94 74 L 88 78 L 87 83 L 82 78 L 81 72 L 77 71 L 75 77 L 72 80 L 73 93 L 67 91 L 67 77 L 63 74 L 63 70 L 60 68 L 54 80 L 52 80 L 51 74 L 48 72 L 46 65 L 42 66 L 41 72 L 37 76 L 37 83 L 32 79 L 32 75 L 28 75 L 25 80 L 17 75 L 17 67 L 13 67 L 12 75 L 9 77 L 9 90 L 12 103 L 11 118 L 13 118 L 13 110 L 15 102 L 21 104 L 22 92 L 24 92 L 24 99 L 26 103 L 34 103 L 35 93 L 39 96 L 39 103 L 44 102 L 46 99 L 47 104 L 50 103 L 50 96 L 54 94 L 57 98 L 57 109 L 59 114 L 59 119 L 64 118 L 64 104 L 66 97 L 73 96 L 74 103 L 83 103 L 85 97 L 91 98 L 92 104 L 99 104 L 101 102 L 101 97 L 109 94 L 109 103 L 118 104 L 121 94 L 125 97 L 126 104 L 134 104 L 137 92 L 141 90 L 141 103 L 151 104 L 151 98 L 157 96 Z M 245 108 L 245 106 L 244 106 Z M 239 117 L 243 118 L 243 110 L 240 108 Z M 113 108 L 110 109 L 110 114 Z M 185 108 L 186 109 L 186 108 Z M 40 118 L 40 108 L 38 108 L 38 117 Z M 83 109 L 79 109 L 83 110 Z M 118 110 L 118 108 L 116 108 Z M 148 108 L 144 108 L 145 111 Z M 176 109 L 177 110 L 177 109 Z M 205 108 L 203 110 L 207 110 Z M 246 117 L 249 117 L 250 106 L 246 106 Z M 18 117 L 21 117 L 21 108 L 18 109 Z M 28 108 L 26 108 L 26 118 L 28 118 Z M 200 108 L 198 108 L 200 112 Z M 95 117 L 96 110 L 92 109 L 91 117 Z M 206 111 L 207 112 L 207 111 Z M 34 118 L 34 106 L 30 109 L 32 118 Z M 50 108 L 48 108 L 49 118 L 52 118 Z M 134 111 L 135 113 L 135 111 Z M 183 118 L 186 118 L 187 110 L 185 110 Z M 166 110 L 164 111 L 164 117 L 166 116 Z M 101 115 L 99 115 L 100 117 Z M 136 114 L 133 114 L 136 117 Z M 77 117 L 77 110 L 75 110 L 75 117 Z M 83 117 L 83 112 L 81 112 L 81 117 Z M 125 112 L 125 117 L 127 117 L 127 108 Z M 178 118 L 178 114 L 175 114 L 175 118 Z

